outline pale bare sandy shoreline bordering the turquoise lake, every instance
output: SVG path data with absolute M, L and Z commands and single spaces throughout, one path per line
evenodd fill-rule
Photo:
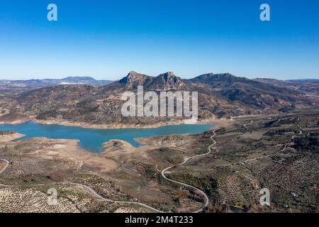
M 46 124 L 53 124 L 57 122 L 48 122 L 48 121 L 35 121 L 36 123 L 46 123 Z M 177 124 L 177 122 L 175 122 Z M 199 123 L 202 124 L 214 124 L 218 127 L 220 126 L 226 126 L 230 123 L 233 123 L 233 121 L 230 121 L 229 119 L 210 119 L 209 121 L 201 121 Z M 81 126 L 83 128 L 94 128 L 94 125 L 81 125 L 80 123 L 76 124 L 69 124 L 67 122 L 60 122 L 61 125 L 66 126 Z M 159 127 L 164 126 L 166 124 L 159 123 L 157 125 L 147 126 L 145 128 L 151 128 L 151 127 Z M 105 125 L 105 126 L 96 126 L 96 128 L 114 128 L 115 125 Z M 116 128 L 120 128 L 118 125 L 116 125 Z M 134 128 L 134 126 L 131 126 Z M 121 126 L 121 128 L 129 128 L 126 126 Z M 142 128 L 142 127 L 140 127 Z M 2 135 L 0 136 L 0 142 L 9 142 L 11 140 L 15 140 L 16 138 L 23 137 L 23 134 L 19 133 L 13 133 L 10 135 Z M 167 135 L 169 136 L 169 135 Z M 134 159 L 134 158 L 140 158 L 140 157 L 147 157 L 147 150 L 160 148 L 162 146 L 172 146 L 172 145 L 179 145 L 175 144 L 174 138 L 179 135 L 172 135 L 173 141 L 168 140 L 160 140 L 158 137 L 145 137 L 145 138 L 138 138 L 136 139 L 139 143 L 142 145 L 138 148 L 133 147 L 128 142 L 125 142 L 123 140 L 109 140 L 106 141 L 106 143 L 103 143 L 103 152 L 99 154 L 94 154 L 89 152 L 89 150 L 84 150 L 83 148 L 79 147 L 78 140 L 63 140 L 63 139 L 57 139 L 52 140 L 48 138 L 32 138 L 30 140 L 37 141 L 38 143 L 52 143 L 51 146 L 45 148 L 45 149 L 35 149 L 35 151 L 30 154 L 35 158 L 44 158 L 47 160 L 69 160 L 74 163 L 74 165 L 77 166 L 78 170 L 82 169 L 95 169 L 99 170 L 97 172 L 110 172 L 114 171 L 118 168 L 118 163 L 116 163 L 114 160 L 118 159 Z M 164 137 L 165 138 L 165 137 Z M 190 140 L 191 137 L 189 135 L 185 135 L 185 140 L 182 141 L 184 143 L 185 141 Z

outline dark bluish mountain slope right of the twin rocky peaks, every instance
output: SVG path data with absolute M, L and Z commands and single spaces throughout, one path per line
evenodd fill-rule
M 303 99 L 299 92 L 291 89 L 279 89 L 271 84 L 245 77 L 235 77 L 230 73 L 203 74 L 189 79 L 189 82 L 198 84 L 206 91 L 210 91 L 211 94 L 218 94 L 230 101 L 240 101 L 258 109 L 281 109 L 298 101 L 307 103 L 307 100 Z

